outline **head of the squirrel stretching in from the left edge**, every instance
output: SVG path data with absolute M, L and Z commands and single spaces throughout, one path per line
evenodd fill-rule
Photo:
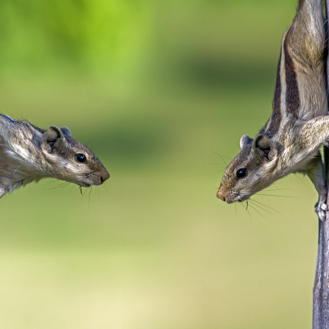
M 101 185 L 109 173 L 97 156 L 85 145 L 71 137 L 67 127 L 52 125 L 40 140 L 46 163 L 43 167 L 53 177 L 73 182 L 82 187 Z

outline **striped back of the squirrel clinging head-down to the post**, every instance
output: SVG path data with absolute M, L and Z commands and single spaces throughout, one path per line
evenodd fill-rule
M 324 49 L 321 0 L 299 0 L 282 39 L 273 113 L 260 134 L 275 136 L 289 116 L 309 120 L 328 113 Z

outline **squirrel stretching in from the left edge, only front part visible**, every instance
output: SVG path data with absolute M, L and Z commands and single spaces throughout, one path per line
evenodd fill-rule
M 97 156 L 71 137 L 67 127 L 45 131 L 0 114 L 0 197 L 41 178 L 80 187 L 101 185 L 109 173 Z

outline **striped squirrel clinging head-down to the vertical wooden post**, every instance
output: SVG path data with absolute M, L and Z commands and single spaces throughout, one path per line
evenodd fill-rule
M 226 168 L 218 199 L 243 202 L 299 172 L 313 182 L 319 194 L 315 212 L 325 221 L 327 187 L 319 149 L 329 141 L 329 115 L 321 8 L 321 0 L 299 0 L 282 39 L 272 116 L 254 139 L 241 137 L 241 152 Z

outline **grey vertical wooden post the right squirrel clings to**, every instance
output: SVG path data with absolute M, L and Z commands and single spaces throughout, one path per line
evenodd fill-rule
M 328 41 L 328 12 L 329 0 L 325 0 L 325 19 L 326 19 L 326 40 Z M 329 81 L 329 57 L 328 45 L 325 51 L 326 59 L 326 85 L 328 98 Z M 329 102 L 328 102 L 329 104 Z M 326 174 L 327 187 L 329 186 L 329 148 L 324 148 L 324 170 Z M 329 193 L 327 193 L 327 204 Z M 329 328 L 329 211 L 326 213 L 326 220 L 322 223 L 319 220 L 319 241 L 318 257 L 315 272 L 315 281 L 313 288 L 313 329 Z

